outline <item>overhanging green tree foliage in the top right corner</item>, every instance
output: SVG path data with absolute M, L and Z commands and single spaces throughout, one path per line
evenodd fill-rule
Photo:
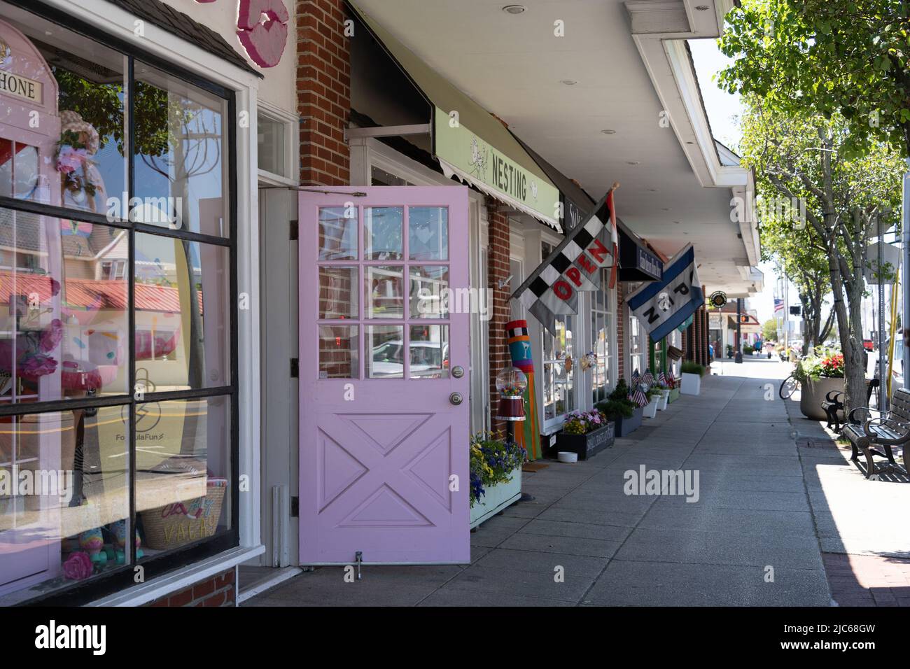
M 726 22 L 722 86 L 840 117 L 844 155 L 886 142 L 910 157 L 910 0 L 743 0 Z

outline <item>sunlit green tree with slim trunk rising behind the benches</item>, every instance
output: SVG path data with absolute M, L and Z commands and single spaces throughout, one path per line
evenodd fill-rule
M 861 306 L 865 292 L 866 248 L 876 223 L 897 223 L 903 161 L 882 142 L 864 155 L 851 154 L 850 123 L 837 115 L 782 114 L 763 99 L 744 98 L 743 163 L 755 169 L 762 202 L 784 198 L 802 214 L 762 218 L 762 239 L 776 252 L 801 295 L 810 294 L 826 268 L 824 292 L 834 295 L 834 317 L 844 351 L 848 407 L 865 399 Z M 760 211 L 760 215 L 761 215 Z M 844 300 L 844 297 L 846 300 Z M 807 298 L 812 301 L 814 298 Z M 824 340 L 822 333 L 816 338 Z

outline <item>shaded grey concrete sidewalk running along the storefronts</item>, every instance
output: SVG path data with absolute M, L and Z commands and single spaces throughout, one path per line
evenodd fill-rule
M 536 499 L 471 533 L 470 566 L 365 567 L 357 583 L 324 567 L 244 605 L 830 605 L 796 432 L 776 395 L 785 366 L 713 367 L 723 375 L 700 396 L 632 439 L 524 472 Z M 626 495 L 624 473 L 642 465 L 698 471 L 698 502 Z

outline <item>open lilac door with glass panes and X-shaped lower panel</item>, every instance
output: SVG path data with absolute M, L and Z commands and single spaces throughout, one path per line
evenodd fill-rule
M 300 563 L 469 563 L 468 189 L 331 190 L 299 205 Z

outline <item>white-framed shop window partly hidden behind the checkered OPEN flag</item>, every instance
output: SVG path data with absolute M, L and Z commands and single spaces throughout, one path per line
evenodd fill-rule
M 553 247 L 544 242 L 542 257 L 547 258 Z M 556 319 L 556 334 L 543 330 L 543 418 L 559 421 L 575 410 L 575 349 L 574 316 Z

